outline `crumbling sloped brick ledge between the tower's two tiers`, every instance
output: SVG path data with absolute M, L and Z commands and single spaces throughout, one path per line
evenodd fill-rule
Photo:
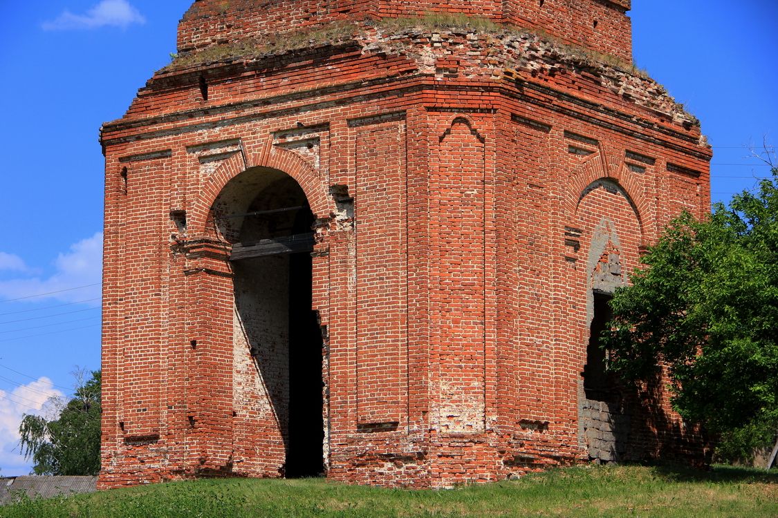
M 328 91 L 335 97 L 343 89 L 352 90 L 352 85 L 345 80 L 349 78 L 348 71 L 361 63 L 364 70 L 359 75 L 361 82 L 367 80 L 376 85 L 390 86 L 402 81 L 403 77 L 407 83 L 412 75 L 436 80 L 445 78 L 447 83 L 483 81 L 495 85 L 518 82 L 531 88 L 525 92 L 528 96 L 543 97 L 565 92 L 573 98 L 602 104 L 604 109 L 630 113 L 629 116 L 636 120 L 647 120 L 657 127 L 681 127 L 682 131 L 676 130 L 676 133 L 687 135 L 685 138 L 691 141 L 700 138 L 699 121 L 685 112 L 664 87 L 642 72 L 633 70 L 631 65 L 608 63 L 602 61 L 606 58 L 604 56 L 566 47 L 534 33 L 510 30 L 484 32 L 467 27 L 429 30 L 415 26 L 352 26 L 352 30 L 356 33 L 347 31 L 345 38 L 335 46 L 326 43 L 303 52 L 288 50 L 277 54 L 268 49 L 259 54 L 256 50 L 234 54 L 239 50 L 228 48 L 226 57 L 216 61 L 180 70 L 174 62 L 169 71 L 160 71 L 139 92 L 138 99 L 121 122 L 107 124 L 103 131 L 110 134 L 120 134 L 121 130 L 132 132 L 132 128 L 158 125 L 165 120 L 174 123 L 184 114 L 191 119 L 192 116 L 216 116 L 226 111 L 261 106 L 278 109 L 287 99 L 319 97 Z M 356 61 L 343 61 L 349 57 Z M 261 89 L 259 85 L 252 86 L 254 82 L 251 78 L 237 84 L 231 79 L 229 82 L 220 79 L 251 75 L 252 71 L 267 69 L 279 61 L 287 66 L 300 66 L 311 59 L 331 60 L 335 70 L 341 68 L 344 73 L 303 75 L 303 81 L 296 83 L 295 93 L 289 92 L 282 75 L 273 73 L 263 78 Z M 348 68 L 344 66 L 346 63 Z M 202 106 L 202 78 L 207 81 L 209 89 L 207 109 Z M 387 84 L 389 78 L 391 82 Z M 241 97 L 245 99 L 244 103 L 235 103 L 234 99 Z M 163 99 L 169 101 L 163 102 Z M 231 101 L 229 104 L 225 103 L 228 99 Z M 165 111 L 173 106 L 175 113 L 180 115 L 170 113 L 165 116 Z M 636 107 L 643 110 L 632 114 Z

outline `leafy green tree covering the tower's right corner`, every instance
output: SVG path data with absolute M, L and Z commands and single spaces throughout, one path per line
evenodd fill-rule
M 704 221 L 678 217 L 616 291 L 610 368 L 668 368 L 672 404 L 718 435 L 778 430 L 778 168 Z M 756 434 L 759 435 L 759 434 Z M 776 443 L 778 447 L 778 443 Z

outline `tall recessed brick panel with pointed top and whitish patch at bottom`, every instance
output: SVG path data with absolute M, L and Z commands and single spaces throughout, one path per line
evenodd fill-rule
M 467 119 L 447 118 L 430 135 L 430 342 L 437 349 L 430 377 L 439 401 L 432 426 L 441 434 L 484 433 L 485 142 Z

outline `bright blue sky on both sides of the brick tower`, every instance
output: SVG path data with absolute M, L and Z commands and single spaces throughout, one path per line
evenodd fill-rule
M 75 367 L 100 367 L 98 128 L 170 62 L 190 4 L 0 2 L 0 475 L 30 470 L 16 448 L 22 413 L 50 412 Z M 633 4 L 636 63 L 713 144 L 713 199 L 752 188 L 769 169 L 748 147 L 778 143 L 778 2 Z

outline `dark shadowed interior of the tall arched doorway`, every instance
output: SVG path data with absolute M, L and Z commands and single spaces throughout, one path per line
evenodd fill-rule
M 219 233 L 233 243 L 235 345 L 251 354 L 256 367 L 258 426 L 267 428 L 261 435 L 282 442 L 282 475 L 321 475 L 322 337 L 312 310 L 310 255 L 314 214 L 296 180 L 268 168 L 247 169 L 230 180 L 213 210 Z M 261 419 L 263 411 L 272 419 Z

